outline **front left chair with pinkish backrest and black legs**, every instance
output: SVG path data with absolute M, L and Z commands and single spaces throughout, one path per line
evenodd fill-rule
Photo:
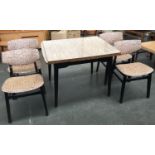
M 19 49 L 2 53 L 2 62 L 5 64 L 9 64 L 11 72 L 12 66 L 28 65 L 32 63 L 36 69 L 35 74 L 9 77 L 4 81 L 2 85 L 2 92 L 4 92 L 5 95 L 9 123 L 12 122 L 9 100 L 16 99 L 18 97 L 41 94 L 44 102 L 45 115 L 48 115 L 46 100 L 44 96 L 44 80 L 42 75 L 39 74 L 36 65 L 37 60 L 39 60 L 39 51 L 37 49 Z

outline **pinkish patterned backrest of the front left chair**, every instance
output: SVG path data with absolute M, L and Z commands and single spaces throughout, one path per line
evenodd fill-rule
M 19 49 L 2 53 L 2 63 L 9 65 L 28 65 L 39 59 L 37 49 Z

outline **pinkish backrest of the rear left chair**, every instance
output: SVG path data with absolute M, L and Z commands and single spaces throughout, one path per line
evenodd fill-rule
M 39 48 L 37 39 L 24 38 L 8 41 L 8 50 L 18 50 L 22 48 Z

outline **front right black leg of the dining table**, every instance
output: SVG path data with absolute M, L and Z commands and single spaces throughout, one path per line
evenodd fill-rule
M 107 62 L 107 76 L 108 76 L 108 96 L 111 94 L 111 80 L 112 80 L 112 73 L 113 73 L 113 65 L 112 65 L 112 57 L 109 58 Z

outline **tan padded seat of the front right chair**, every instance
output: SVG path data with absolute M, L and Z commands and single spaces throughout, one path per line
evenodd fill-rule
M 153 68 L 140 62 L 120 64 L 116 67 L 122 74 L 131 77 L 144 76 L 153 72 Z

